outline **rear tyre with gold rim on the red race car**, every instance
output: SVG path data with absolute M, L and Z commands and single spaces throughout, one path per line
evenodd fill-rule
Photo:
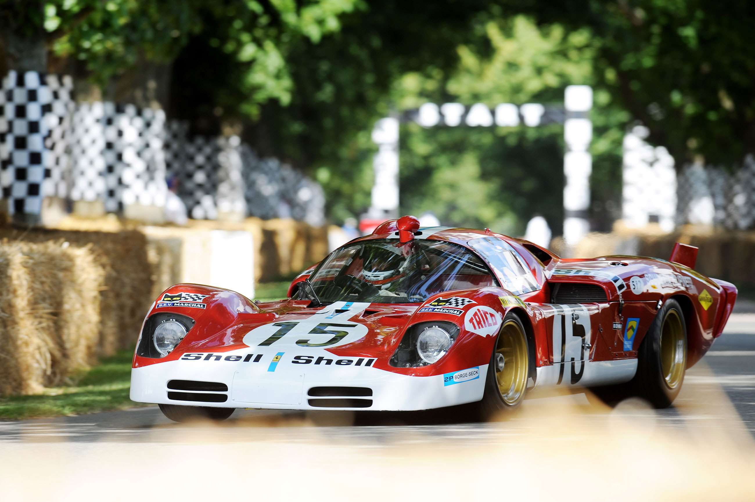
M 636 393 L 655 408 L 668 408 L 684 382 L 687 330 L 682 307 L 667 300 L 639 346 Z

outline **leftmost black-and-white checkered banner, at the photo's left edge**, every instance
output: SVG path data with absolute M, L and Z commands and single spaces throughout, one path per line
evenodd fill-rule
M 8 72 L 0 92 L 0 186 L 11 214 L 40 214 L 45 196 L 67 195 L 69 77 Z

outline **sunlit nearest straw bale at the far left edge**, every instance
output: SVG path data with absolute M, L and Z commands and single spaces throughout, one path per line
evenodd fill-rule
M 0 394 L 60 385 L 94 361 L 103 273 L 63 241 L 0 244 Z

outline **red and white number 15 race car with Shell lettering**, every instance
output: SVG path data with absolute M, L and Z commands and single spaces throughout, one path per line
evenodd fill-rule
M 146 316 L 131 399 L 171 420 L 235 408 L 517 408 L 535 387 L 658 408 L 720 336 L 737 289 L 670 260 L 561 259 L 488 229 L 381 224 L 270 303 L 168 288 Z

